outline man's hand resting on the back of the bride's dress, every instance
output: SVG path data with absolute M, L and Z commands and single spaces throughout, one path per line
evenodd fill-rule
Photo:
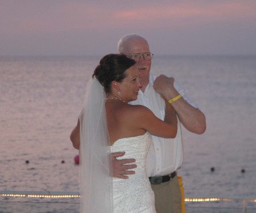
M 130 171 L 128 169 L 137 168 L 136 164 L 129 164 L 129 163 L 135 162 L 136 160 L 134 158 L 121 159 L 121 160 L 117 159 L 117 157 L 121 157 L 123 155 L 125 155 L 125 152 L 112 153 L 113 177 L 128 179 L 129 177 L 126 176 L 127 174 L 135 174 L 134 171 Z

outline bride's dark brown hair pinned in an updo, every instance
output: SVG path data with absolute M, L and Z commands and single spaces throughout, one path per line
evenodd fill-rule
M 111 82 L 122 82 L 126 77 L 125 71 L 136 62 L 123 54 L 109 54 L 100 60 L 95 68 L 93 77 L 104 87 L 106 94 L 111 92 Z

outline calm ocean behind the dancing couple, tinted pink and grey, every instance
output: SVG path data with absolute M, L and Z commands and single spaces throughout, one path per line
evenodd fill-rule
M 0 57 L 0 190 L 79 191 L 69 135 L 100 59 Z M 151 72 L 174 77 L 207 118 L 203 135 L 182 129 L 185 197 L 256 198 L 256 56 L 152 60 Z M 12 212 L 5 201 L 0 212 Z

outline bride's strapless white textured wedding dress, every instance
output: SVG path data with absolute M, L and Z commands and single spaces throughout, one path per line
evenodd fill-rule
M 151 135 L 126 137 L 115 141 L 111 152 L 125 151 L 121 158 L 135 158 L 137 168 L 129 179 L 113 178 L 114 213 L 154 213 L 155 197 L 146 173 Z

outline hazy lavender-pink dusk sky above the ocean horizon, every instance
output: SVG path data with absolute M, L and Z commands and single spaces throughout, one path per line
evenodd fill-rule
M 0 0 L 0 56 L 101 56 L 130 33 L 154 55 L 256 55 L 256 1 Z

